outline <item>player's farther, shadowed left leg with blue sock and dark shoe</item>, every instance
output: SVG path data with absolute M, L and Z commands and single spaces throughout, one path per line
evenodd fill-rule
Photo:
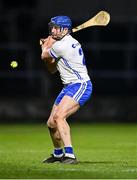
M 53 120 L 53 116 L 57 108 L 58 108 L 57 105 L 53 105 L 51 114 L 47 121 L 50 136 L 54 145 L 54 151 L 53 154 L 51 154 L 51 157 L 43 160 L 43 163 L 54 163 L 56 161 L 61 161 L 61 157 L 63 156 L 62 140 L 60 137 L 60 133 L 57 129 L 56 122 Z

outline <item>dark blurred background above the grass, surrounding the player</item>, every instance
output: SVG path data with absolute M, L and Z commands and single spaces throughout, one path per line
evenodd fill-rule
M 72 119 L 137 121 L 136 0 L 0 0 L 0 122 L 47 119 L 62 84 L 40 59 L 39 39 L 48 36 L 53 16 L 68 15 L 75 27 L 100 10 L 111 15 L 107 27 L 73 34 L 85 52 L 93 94 Z

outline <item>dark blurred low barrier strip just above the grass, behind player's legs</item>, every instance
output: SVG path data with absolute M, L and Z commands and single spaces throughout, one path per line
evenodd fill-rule
M 51 101 L 52 102 L 52 101 Z M 45 122 L 51 102 L 47 99 L 5 100 L 0 102 L 0 122 Z M 70 118 L 72 122 L 136 122 L 137 98 L 93 97 Z

